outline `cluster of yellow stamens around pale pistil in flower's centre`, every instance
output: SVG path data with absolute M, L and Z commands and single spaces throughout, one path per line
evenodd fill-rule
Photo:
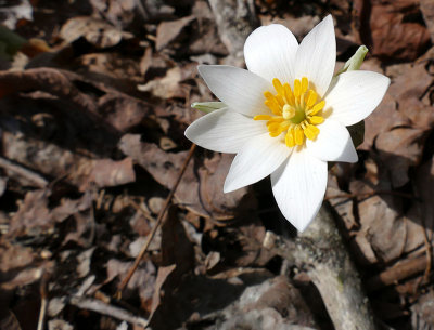
M 282 85 L 278 78 L 272 79 L 277 94 L 269 91 L 264 93 L 265 105 L 272 115 L 257 115 L 254 120 L 267 120 L 267 128 L 271 137 L 277 137 L 283 132 L 285 144 L 290 148 L 304 145 L 305 136 L 309 140 L 317 138 L 319 129 L 317 124 L 324 121 L 321 110 L 326 102 L 317 103 L 318 94 L 308 89 L 309 81 L 306 77 L 294 80 L 294 90 L 286 82 Z

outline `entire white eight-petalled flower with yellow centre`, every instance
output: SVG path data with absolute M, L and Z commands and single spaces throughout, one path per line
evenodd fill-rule
M 327 161 L 357 161 L 345 127 L 373 111 L 390 79 L 355 70 L 332 81 L 336 41 L 330 15 L 301 44 L 282 25 L 259 27 L 248 36 L 244 56 L 248 70 L 199 67 L 227 107 L 194 121 L 186 136 L 204 148 L 237 154 L 225 193 L 271 174 L 281 212 L 303 232 L 321 207 Z

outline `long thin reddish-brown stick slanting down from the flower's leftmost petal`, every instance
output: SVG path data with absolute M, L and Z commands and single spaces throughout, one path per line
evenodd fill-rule
M 135 274 L 137 267 L 139 266 L 140 261 L 142 260 L 144 253 L 146 253 L 146 250 L 149 248 L 149 246 L 151 245 L 152 239 L 155 236 L 156 229 L 158 229 L 159 225 L 163 222 L 164 215 L 166 214 L 166 210 L 171 201 L 171 198 L 174 197 L 174 194 L 179 185 L 179 183 L 181 182 L 182 175 L 186 172 L 187 166 L 189 164 L 191 158 L 193 157 L 194 154 L 194 149 L 195 149 L 196 145 L 193 143 L 190 147 L 190 151 L 189 155 L 186 158 L 186 161 L 182 164 L 181 170 L 179 171 L 177 181 L 175 182 L 174 187 L 171 188 L 169 195 L 166 198 L 166 201 L 164 202 L 163 209 L 159 211 L 158 217 L 156 219 L 156 224 L 154 225 L 154 227 L 152 228 L 151 234 L 148 236 L 146 241 L 144 242 L 144 245 L 142 246 L 142 249 L 140 250 L 139 255 L 136 258 L 135 260 L 135 264 L 129 268 L 127 276 L 124 278 L 124 280 L 120 282 L 119 289 L 116 292 L 116 298 L 120 299 L 122 296 L 122 292 L 124 291 L 124 289 L 127 287 L 129 280 L 131 279 L 132 275 Z

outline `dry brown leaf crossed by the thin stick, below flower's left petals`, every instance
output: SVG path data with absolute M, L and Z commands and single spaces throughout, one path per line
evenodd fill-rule
M 154 144 L 141 142 L 140 135 L 133 134 L 123 136 L 119 149 L 169 189 L 175 184 L 188 153 L 165 153 Z M 213 158 L 205 160 L 204 167 L 200 169 L 200 179 L 194 173 L 193 162 L 190 162 L 175 193 L 175 198 L 180 204 L 194 212 L 215 219 L 227 217 L 234 211 L 254 208 L 255 200 L 248 195 L 247 188 L 230 194 L 222 193 L 224 180 L 231 158 L 230 155 L 215 154 Z

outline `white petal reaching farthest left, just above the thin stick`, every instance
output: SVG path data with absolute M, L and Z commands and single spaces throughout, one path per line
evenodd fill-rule
M 267 126 L 264 121 L 255 121 L 224 108 L 195 120 L 186 130 L 186 136 L 196 145 L 209 150 L 238 153 L 252 136 L 265 132 L 267 132 Z

